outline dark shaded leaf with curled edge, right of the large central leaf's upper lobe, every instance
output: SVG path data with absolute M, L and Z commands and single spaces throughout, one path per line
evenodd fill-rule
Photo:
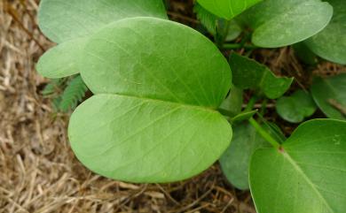
M 230 57 L 230 65 L 236 87 L 256 89 L 271 99 L 283 95 L 293 81 L 293 78 L 276 77 L 266 66 L 235 53 Z

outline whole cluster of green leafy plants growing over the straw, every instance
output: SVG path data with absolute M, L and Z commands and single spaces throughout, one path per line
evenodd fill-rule
M 36 66 L 57 79 L 44 93 L 67 85 L 61 110 L 87 88 L 93 94 L 70 118 L 75 156 L 102 176 L 136 183 L 188 179 L 219 159 L 233 186 L 250 189 L 259 213 L 344 212 L 346 74 L 315 77 L 309 91 L 283 96 L 294 78 L 249 57 L 294 45 L 308 64 L 319 57 L 346 65 L 346 4 L 197 0 L 194 11 L 201 32 L 170 21 L 161 0 L 41 1 L 39 26 L 58 43 Z M 224 49 L 245 52 L 225 58 Z M 244 91 L 252 97 L 242 109 Z M 318 108 L 327 118 L 286 138 L 265 110 L 254 110 L 271 99 L 288 122 Z

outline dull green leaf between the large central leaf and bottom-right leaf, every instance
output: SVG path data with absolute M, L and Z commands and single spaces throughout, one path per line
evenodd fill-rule
M 250 156 L 256 148 L 269 147 L 256 129 L 247 123 L 232 126 L 233 137 L 231 145 L 220 158 L 222 171 L 233 186 L 241 190 L 248 189 L 248 165 Z

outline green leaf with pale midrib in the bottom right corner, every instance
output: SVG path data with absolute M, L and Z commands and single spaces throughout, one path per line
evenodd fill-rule
M 342 213 L 346 209 L 346 122 L 316 119 L 282 145 L 257 149 L 249 180 L 258 213 Z

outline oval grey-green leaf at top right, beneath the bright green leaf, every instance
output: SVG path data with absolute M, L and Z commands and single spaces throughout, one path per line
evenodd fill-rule
M 252 42 L 263 48 L 278 48 L 302 42 L 329 23 L 333 7 L 320 0 L 266 0 L 240 16 L 254 29 Z

